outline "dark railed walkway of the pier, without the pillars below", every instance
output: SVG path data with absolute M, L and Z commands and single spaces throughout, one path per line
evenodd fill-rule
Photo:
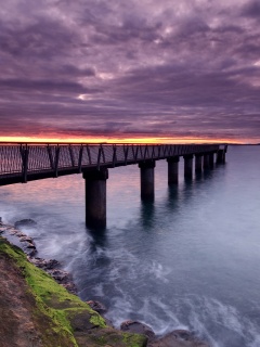
M 0 143 L 0 185 L 218 150 L 218 144 Z

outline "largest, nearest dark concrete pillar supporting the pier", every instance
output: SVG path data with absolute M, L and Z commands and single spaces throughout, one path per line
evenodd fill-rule
M 106 180 L 108 169 L 84 171 L 86 180 L 86 226 L 106 227 Z

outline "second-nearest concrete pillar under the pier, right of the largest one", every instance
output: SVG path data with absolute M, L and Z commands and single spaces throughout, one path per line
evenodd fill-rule
M 141 176 L 141 198 L 154 198 L 154 168 L 155 160 L 139 163 Z

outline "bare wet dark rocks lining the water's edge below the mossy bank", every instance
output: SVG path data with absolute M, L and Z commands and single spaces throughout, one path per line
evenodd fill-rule
M 65 287 L 70 294 L 77 295 L 77 287 L 73 282 L 73 277 L 62 270 L 62 265 L 56 259 L 43 259 L 37 257 L 37 247 L 34 239 L 23 233 L 21 227 L 34 227 L 36 222 L 31 219 L 16 221 L 14 226 L 3 223 L 0 217 L 0 235 L 10 239 L 16 237 L 21 248 L 27 256 L 27 260 L 36 267 L 49 273 L 60 285 Z M 104 319 L 106 308 L 99 301 L 89 300 L 87 304 Z M 110 322 L 107 322 L 112 325 Z M 144 323 L 138 321 L 125 321 L 120 325 L 122 332 L 142 334 L 147 337 L 147 347 L 210 347 L 209 344 L 197 338 L 192 332 L 186 330 L 174 330 L 166 336 L 158 337 L 153 330 Z

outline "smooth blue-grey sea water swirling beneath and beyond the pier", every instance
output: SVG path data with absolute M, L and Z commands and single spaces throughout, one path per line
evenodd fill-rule
M 84 227 L 81 175 L 0 188 L 6 222 L 40 257 L 74 275 L 82 299 L 98 299 L 116 326 L 127 319 L 157 334 L 188 329 L 214 347 L 260 346 L 260 147 L 230 146 L 226 164 L 168 188 L 156 163 L 155 201 L 140 200 L 136 165 L 109 169 L 107 229 Z

